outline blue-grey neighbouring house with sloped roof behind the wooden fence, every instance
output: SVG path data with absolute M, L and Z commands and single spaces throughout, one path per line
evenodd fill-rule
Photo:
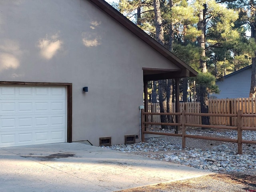
M 212 94 L 218 99 L 249 97 L 252 76 L 252 65 L 244 67 L 216 80 L 220 94 Z

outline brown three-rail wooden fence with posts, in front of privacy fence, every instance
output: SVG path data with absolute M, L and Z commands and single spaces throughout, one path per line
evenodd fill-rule
M 197 139 L 206 139 L 206 140 L 216 140 L 216 141 L 224 141 L 224 142 L 234 142 L 238 144 L 238 154 L 242 154 L 242 144 L 256 144 L 255 140 L 242 140 L 242 130 L 250 130 L 256 131 L 255 127 L 248 127 L 243 124 L 242 118 L 256 118 L 256 114 L 242 114 L 241 110 L 238 110 L 236 114 L 209 114 L 209 113 L 187 113 L 185 110 L 182 110 L 181 113 L 150 113 L 144 112 L 141 110 L 141 136 L 142 142 L 144 142 L 144 134 L 158 134 L 158 135 L 168 135 L 168 136 L 179 136 L 182 137 L 182 148 L 186 147 L 186 138 L 197 138 Z M 180 116 L 178 118 L 178 122 L 176 123 L 161 123 L 161 122 L 150 122 L 145 121 L 146 116 L 150 115 L 177 115 Z M 223 125 L 202 125 L 202 124 L 192 124 L 187 122 L 186 116 L 210 116 L 210 117 L 234 117 L 236 118 L 236 126 L 223 126 Z M 175 133 L 166 133 L 166 132 L 152 132 L 147 130 L 148 125 L 170 125 L 170 126 L 181 126 L 182 134 Z M 192 127 L 202 127 L 202 128 L 213 128 L 213 129 L 230 129 L 237 131 L 237 139 L 232 138 L 218 138 L 218 137 L 208 137 L 208 136 L 200 136 L 200 135 L 191 135 L 186 134 L 186 126 Z

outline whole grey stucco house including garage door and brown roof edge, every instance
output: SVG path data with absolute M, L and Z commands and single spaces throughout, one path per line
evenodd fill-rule
M 196 74 L 103 0 L 0 0 L 0 147 L 140 142 L 144 82 Z

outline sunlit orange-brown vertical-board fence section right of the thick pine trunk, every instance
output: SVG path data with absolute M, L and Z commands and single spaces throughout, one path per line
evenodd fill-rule
M 209 99 L 209 113 L 212 114 L 237 114 L 241 110 L 243 114 L 256 114 L 256 98 L 235 99 Z M 253 117 L 242 117 L 244 126 L 255 127 L 256 120 Z M 236 126 L 236 117 L 210 117 L 211 125 Z

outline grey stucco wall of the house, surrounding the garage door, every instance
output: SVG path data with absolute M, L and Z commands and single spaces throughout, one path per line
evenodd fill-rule
M 0 81 L 72 83 L 72 141 L 140 135 L 142 68 L 179 69 L 88 0 L 0 0 L 0 10 Z

